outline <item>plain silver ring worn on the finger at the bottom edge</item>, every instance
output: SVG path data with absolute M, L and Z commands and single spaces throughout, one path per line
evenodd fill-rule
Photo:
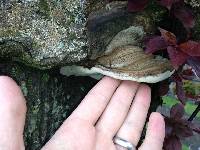
M 120 146 L 126 148 L 127 150 L 136 150 L 136 147 L 132 143 L 130 143 L 129 141 L 126 141 L 118 136 L 115 136 L 113 138 L 113 142 L 114 142 L 114 144 L 120 145 Z

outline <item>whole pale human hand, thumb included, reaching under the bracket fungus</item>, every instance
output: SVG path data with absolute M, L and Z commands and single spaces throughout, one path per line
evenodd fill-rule
M 137 145 L 150 99 L 150 88 L 146 85 L 104 77 L 43 150 L 123 150 L 113 143 L 115 135 Z M 0 148 L 24 149 L 25 99 L 8 77 L 0 77 L 0 102 Z M 163 117 L 152 113 L 146 138 L 139 149 L 161 150 L 164 128 Z

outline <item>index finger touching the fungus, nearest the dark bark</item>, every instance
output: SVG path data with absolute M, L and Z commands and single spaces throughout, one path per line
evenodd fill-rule
M 104 77 L 92 90 L 90 90 L 69 119 L 80 118 L 95 124 L 119 84 L 119 80 Z

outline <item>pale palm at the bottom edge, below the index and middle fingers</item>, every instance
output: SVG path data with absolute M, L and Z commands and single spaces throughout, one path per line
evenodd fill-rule
M 56 141 L 51 139 L 43 150 L 60 150 L 58 149 L 56 144 L 59 140 L 59 145 L 68 145 L 65 147 L 67 150 L 94 150 L 94 149 L 102 149 L 102 150 L 116 150 L 116 146 L 114 145 L 112 139 L 106 137 L 106 134 L 99 134 L 94 126 L 88 124 L 87 121 L 74 119 L 67 120 L 67 126 L 64 128 L 60 128 L 58 132 L 54 135 Z M 64 136 L 64 134 L 73 135 L 73 136 Z M 58 137 L 59 136 L 59 137 Z M 66 141 L 67 144 L 66 144 Z M 56 145 L 56 147 L 54 147 Z

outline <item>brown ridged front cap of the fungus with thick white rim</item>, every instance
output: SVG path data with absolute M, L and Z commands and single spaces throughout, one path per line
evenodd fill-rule
M 174 72 L 168 59 L 145 54 L 142 48 L 131 45 L 115 48 L 97 62 L 94 70 L 122 80 L 154 83 Z

